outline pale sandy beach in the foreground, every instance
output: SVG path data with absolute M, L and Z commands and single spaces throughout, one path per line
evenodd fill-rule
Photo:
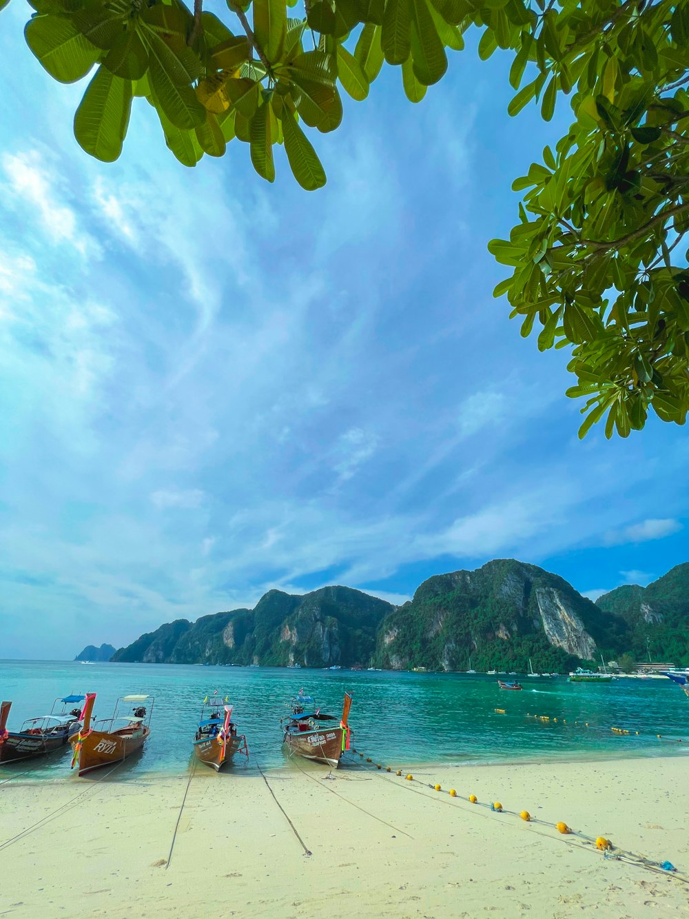
M 678 877 L 605 858 L 576 834 L 517 815 L 603 835 L 687 877 L 682 756 L 424 766 L 416 782 L 370 766 L 328 779 L 327 768 L 299 763 L 265 774 L 294 828 L 255 768 L 197 768 L 167 868 L 188 776 L 124 768 L 102 781 L 17 777 L 0 787 L 0 915 L 689 916 L 689 885 Z M 469 794 L 505 810 L 471 804 Z

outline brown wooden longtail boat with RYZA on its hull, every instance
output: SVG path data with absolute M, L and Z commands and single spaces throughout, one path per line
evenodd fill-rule
M 141 705 L 142 702 L 151 700 L 148 710 Z M 141 750 L 141 747 L 151 734 L 151 714 L 153 710 L 152 696 L 122 696 L 115 703 L 112 718 L 95 721 L 91 727 L 91 714 L 96 701 L 96 693 L 86 694 L 84 718 L 79 731 L 70 737 L 73 757 L 72 768 L 78 764 L 79 775 L 85 776 L 101 766 L 114 766 L 127 759 L 132 753 Z M 128 706 L 135 703 L 130 715 L 119 715 L 120 705 Z M 116 724 L 123 721 L 122 727 Z

